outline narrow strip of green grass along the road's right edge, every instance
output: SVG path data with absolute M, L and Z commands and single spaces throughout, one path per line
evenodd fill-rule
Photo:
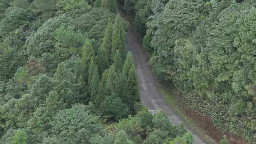
M 196 134 L 198 134 L 199 137 L 201 137 L 207 144 L 216 144 L 212 139 L 210 139 L 209 136 L 205 134 L 205 132 L 199 128 L 198 124 L 194 122 L 191 118 L 187 117 L 182 110 L 178 107 L 178 97 L 176 92 L 174 93 L 175 89 L 172 89 L 173 91 L 166 90 L 165 88 L 159 87 L 161 93 L 165 97 L 165 101 L 168 103 L 168 105 L 174 110 L 176 114 L 178 114 L 183 121 L 189 126 L 190 129 L 194 130 Z

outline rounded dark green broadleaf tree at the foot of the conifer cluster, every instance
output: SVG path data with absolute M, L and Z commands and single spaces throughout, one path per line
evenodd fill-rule
M 120 119 L 127 117 L 129 114 L 128 107 L 122 104 L 122 101 L 117 94 L 107 96 L 101 103 L 100 108 L 103 113 L 103 117 L 110 121 L 119 121 Z

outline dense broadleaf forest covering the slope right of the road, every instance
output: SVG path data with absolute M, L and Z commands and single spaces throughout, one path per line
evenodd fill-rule
M 256 0 L 126 0 L 124 9 L 159 81 L 222 132 L 255 144 Z

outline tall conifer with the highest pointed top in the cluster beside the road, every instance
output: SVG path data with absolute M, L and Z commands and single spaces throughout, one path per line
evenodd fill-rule
M 119 52 L 122 55 L 122 59 L 125 59 L 125 44 L 126 44 L 126 36 L 125 30 L 122 25 L 122 18 L 120 14 L 117 14 L 115 23 L 113 25 L 113 35 L 112 35 L 112 59 L 116 51 L 119 49 Z

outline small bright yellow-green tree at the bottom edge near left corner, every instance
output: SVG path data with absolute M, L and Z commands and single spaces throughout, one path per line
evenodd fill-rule
M 28 144 L 27 133 L 22 129 L 18 129 L 12 137 L 11 144 Z

